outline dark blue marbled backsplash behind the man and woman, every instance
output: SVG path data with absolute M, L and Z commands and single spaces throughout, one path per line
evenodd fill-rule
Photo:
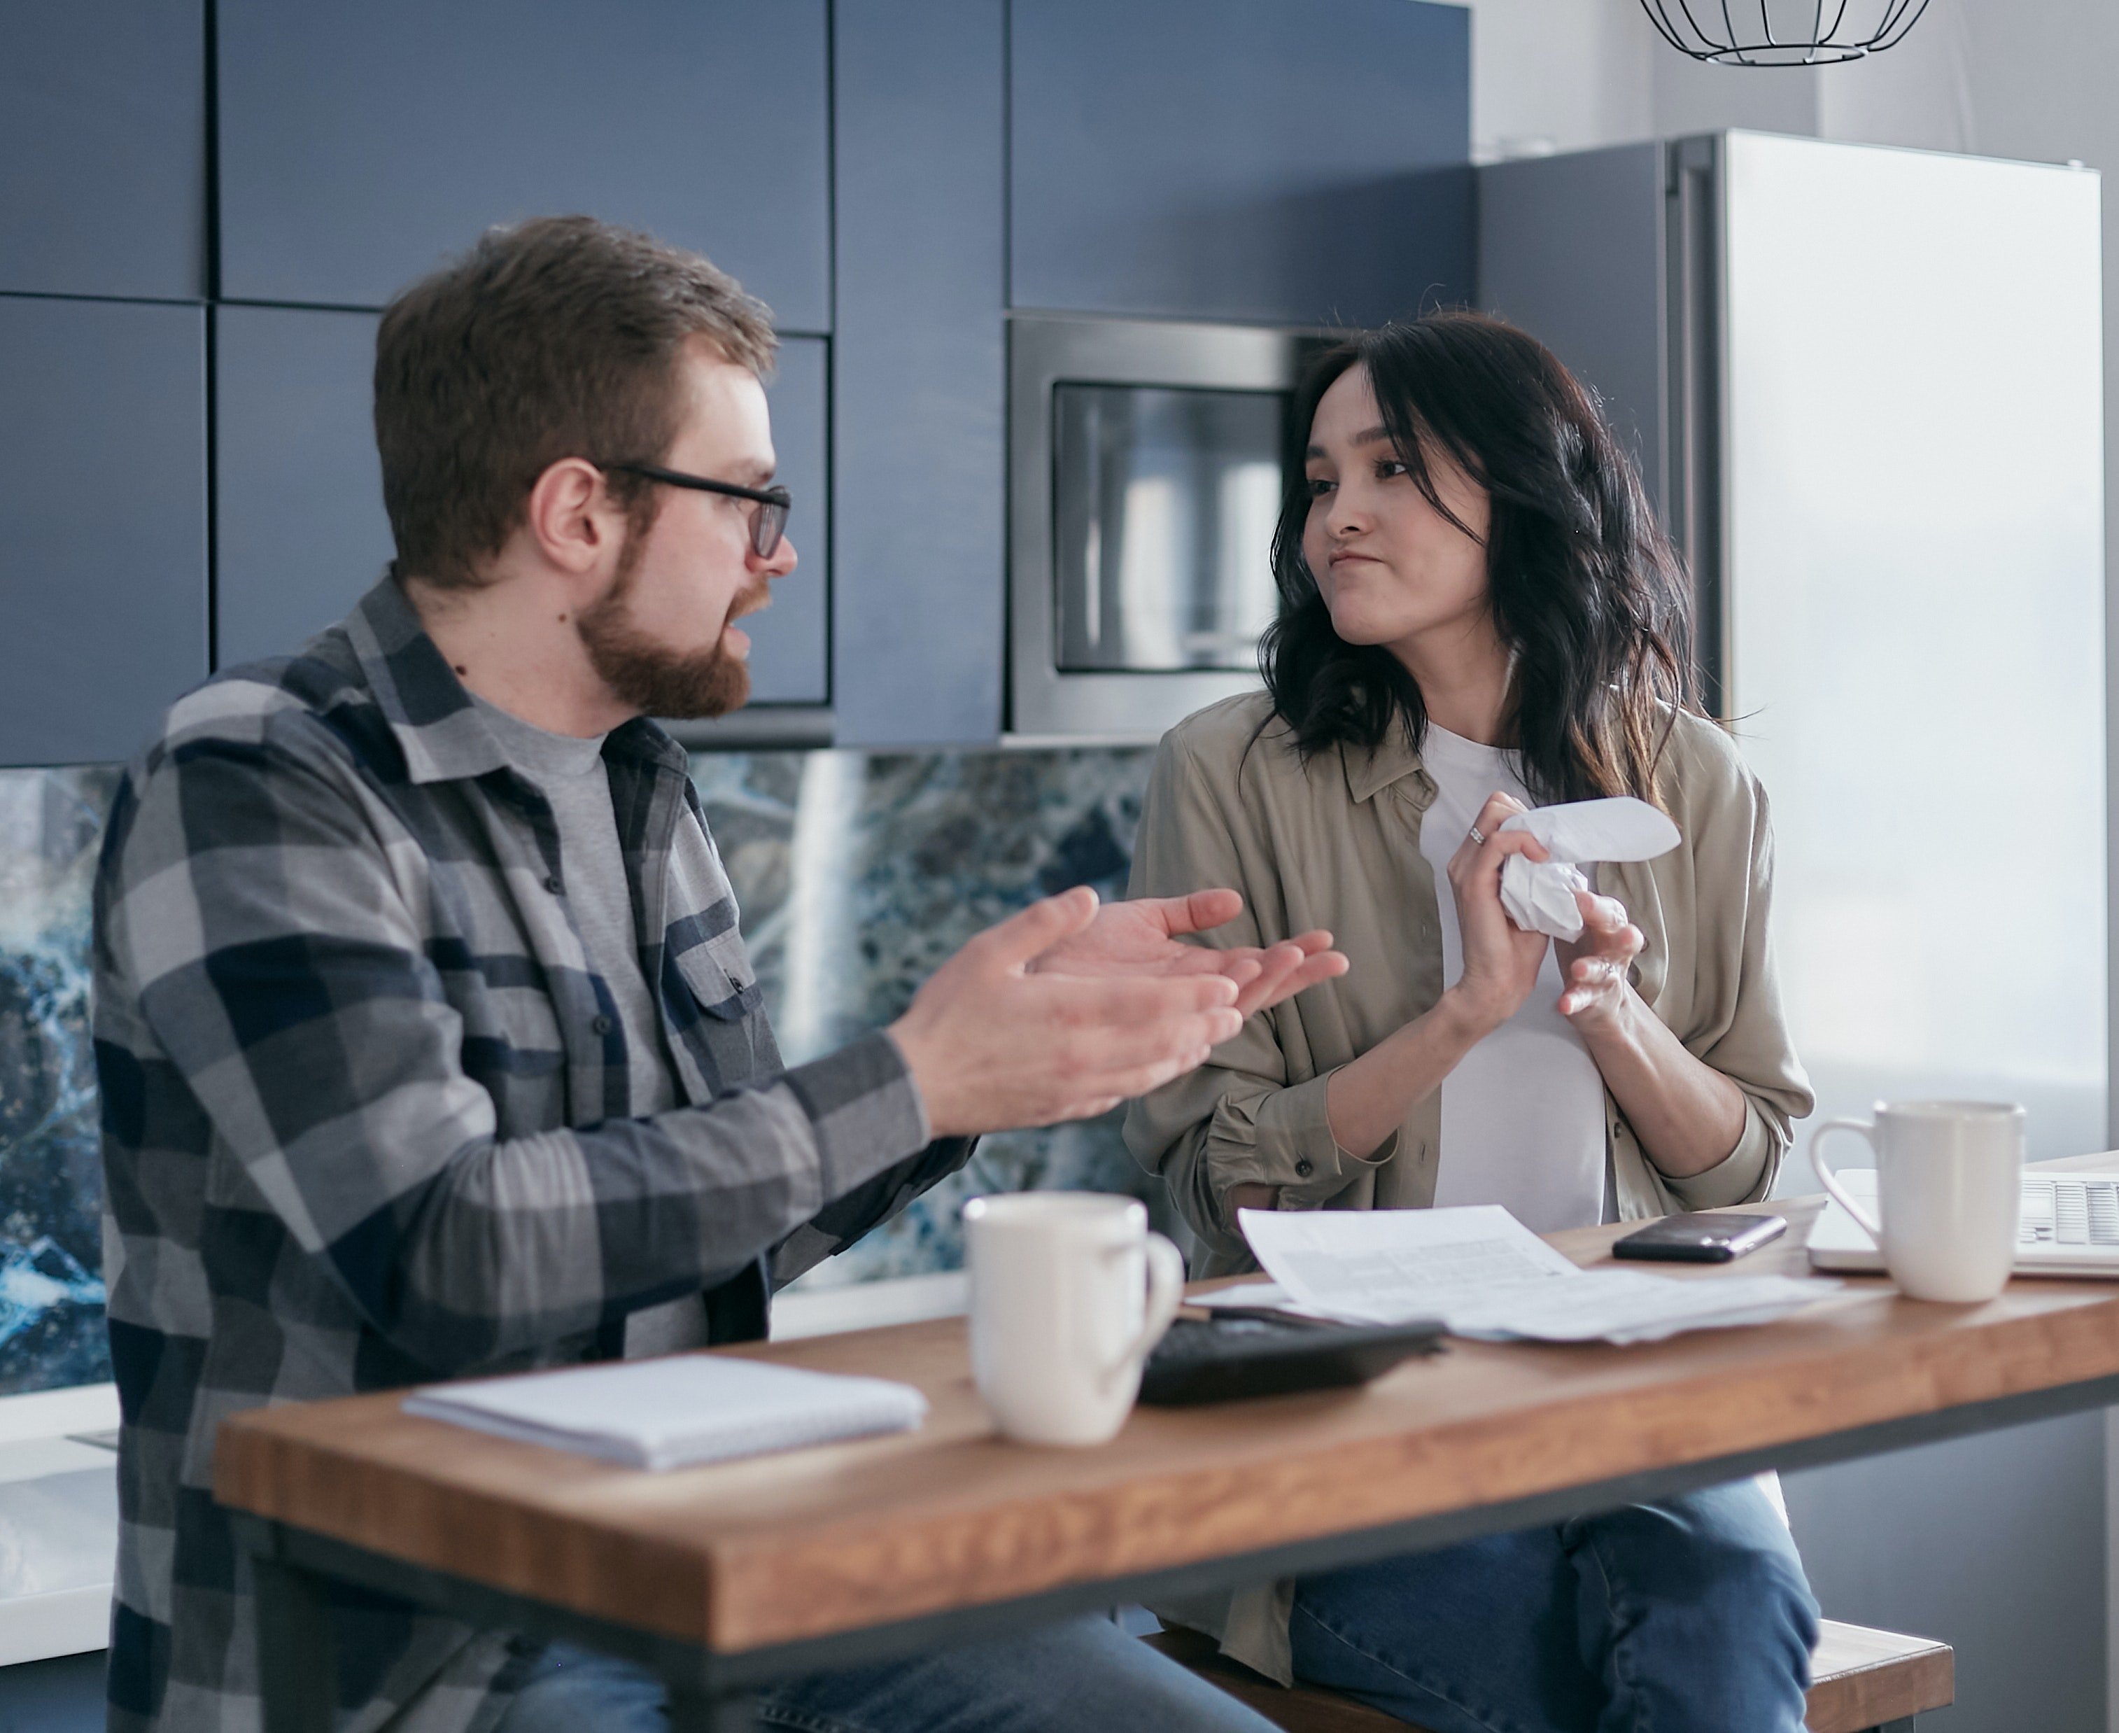
M 89 886 L 117 769 L 0 771 L 0 1394 L 110 1377 Z M 973 932 L 1076 883 L 1125 888 L 1144 750 L 693 758 L 788 1061 L 886 1023 Z M 1168 1231 L 1119 1114 L 981 1142 L 968 1169 L 803 1278 L 956 1269 L 981 1191 L 1125 1191 Z

